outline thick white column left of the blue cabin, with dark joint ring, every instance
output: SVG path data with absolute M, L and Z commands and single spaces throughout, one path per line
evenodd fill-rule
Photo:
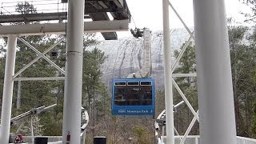
M 79 144 L 82 105 L 82 53 L 85 1 L 68 2 L 62 143 Z M 67 135 L 70 134 L 70 142 Z

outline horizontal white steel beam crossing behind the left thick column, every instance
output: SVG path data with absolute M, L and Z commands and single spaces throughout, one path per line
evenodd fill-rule
M 92 21 L 84 22 L 84 32 L 116 32 L 127 31 L 129 20 L 114 21 Z M 66 23 L 45 23 L 45 24 L 26 24 L 14 26 L 0 26 L 0 37 L 8 34 L 41 35 L 41 34 L 66 34 Z

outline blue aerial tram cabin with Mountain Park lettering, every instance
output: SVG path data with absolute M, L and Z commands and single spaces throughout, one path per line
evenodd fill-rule
M 119 78 L 113 81 L 113 115 L 153 118 L 154 99 L 153 78 Z

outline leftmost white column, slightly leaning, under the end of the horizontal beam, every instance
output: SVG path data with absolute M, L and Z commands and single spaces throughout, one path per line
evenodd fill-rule
M 8 36 L 7 53 L 6 53 L 6 70 L 2 95 L 2 114 L 1 114 L 1 129 L 0 143 L 9 143 L 10 136 L 10 117 L 11 106 L 14 88 L 14 67 L 16 56 L 17 37 L 15 35 Z

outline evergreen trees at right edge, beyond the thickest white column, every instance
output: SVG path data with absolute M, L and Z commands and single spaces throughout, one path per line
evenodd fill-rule
M 253 102 L 255 101 L 254 71 L 256 50 L 254 33 L 245 26 L 232 26 L 229 20 L 230 58 L 234 91 L 234 111 L 237 133 L 240 136 L 252 136 Z M 246 36 L 249 35 L 250 36 Z M 247 38 L 247 40 L 246 40 Z M 248 41 L 248 44 L 245 42 Z

